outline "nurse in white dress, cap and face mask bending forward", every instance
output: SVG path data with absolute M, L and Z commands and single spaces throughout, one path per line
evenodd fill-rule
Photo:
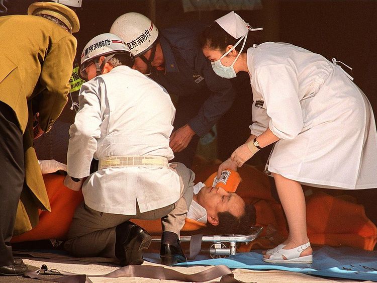
M 219 167 L 237 169 L 274 142 L 266 172 L 275 179 L 290 234 L 267 250 L 267 262 L 312 262 L 301 184 L 377 187 L 377 134 L 371 106 L 335 58 L 287 44 L 247 40 L 251 28 L 231 12 L 202 34 L 214 71 L 248 72 L 253 91 L 251 134 Z M 319 208 L 320 209 L 320 208 Z

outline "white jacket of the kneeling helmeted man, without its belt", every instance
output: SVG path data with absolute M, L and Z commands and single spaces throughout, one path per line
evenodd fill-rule
M 68 175 L 88 176 L 82 186 L 93 210 L 124 215 L 175 203 L 178 175 L 169 168 L 120 167 L 89 175 L 92 158 L 154 155 L 171 160 L 175 109 L 163 88 L 142 73 L 118 66 L 81 86 L 80 109 L 69 129 Z

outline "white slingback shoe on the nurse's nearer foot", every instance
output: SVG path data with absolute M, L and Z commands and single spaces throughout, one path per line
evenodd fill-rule
M 293 249 L 279 249 L 272 253 L 269 258 L 263 258 L 264 262 L 270 263 L 312 263 L 313 255 L 300 256 L 310 247 L 310 242 Z

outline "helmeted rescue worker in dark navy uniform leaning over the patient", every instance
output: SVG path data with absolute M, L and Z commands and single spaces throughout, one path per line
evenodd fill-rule
M 187 167 L 191 167 L 199 137 L 212 129 L 235 98 L 232 83 L 214 73 L 199 47 L 198 35 L 205 27 L 190 23 L 158 30 L 144 15 L 126 13 L 110 29 L 134 53 L 133 68 L 150 74 L 178 97 L 169 145 L 174 161 Z

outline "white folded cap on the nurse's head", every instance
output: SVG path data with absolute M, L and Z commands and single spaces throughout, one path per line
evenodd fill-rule
M 234 11 L 226 14 L 225 16 L 217 19 L 220 27 L 222 27 L 228 34 L 233 36 L 235 39 L 240 38 L 247 34 L 248 31 L 259 31 L 263 28 L 253 29 L 248 23 L 245 23 L 240 16 L 238 16 Z

